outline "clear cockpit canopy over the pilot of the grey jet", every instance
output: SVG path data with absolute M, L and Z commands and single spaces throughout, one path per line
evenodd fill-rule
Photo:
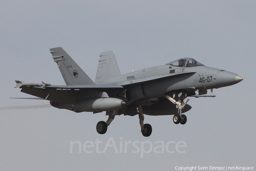
M 192 58 L 181 58 L 175 61 L 172 61 L 166 65 L 171 65 L 171 66 L 178 66 L 178 67 L 195 67 L 195 66 L 204 66 L 200 62 L 197 62 L 196 60 Z

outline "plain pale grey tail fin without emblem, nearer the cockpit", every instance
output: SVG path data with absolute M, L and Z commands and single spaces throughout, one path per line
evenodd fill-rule
M 104 82 L 110 78 L 120 75 L 121 73 L 113 50 L 101 52 L 95 83 Z

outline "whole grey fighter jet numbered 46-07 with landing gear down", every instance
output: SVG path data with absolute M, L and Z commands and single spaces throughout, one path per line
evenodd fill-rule
M 50 49 L 66 85 L 34 84 L 16 81 L 21 92 L 49 100 L 53 107 L 74 112 L 106 111 L 108 120 L 96 125 L 104 134 L 115 115 L 139 115 L 141 133 L 152 133 L 144 124 L 145 115 L 174 115 L 175 124 L 185 124 L 183 114 L 191 109 L 187 97 L 215 97 L 207 90 L 231 86 L 243 80 L 232 72 L 204 66 L 192 58 L 181 58 L 166 65 L 145 68 L 121 75 L 113 51 L 101 52 L 93 82 L 61 48 Z M 196 92 L 198 92 L 196 94 Z

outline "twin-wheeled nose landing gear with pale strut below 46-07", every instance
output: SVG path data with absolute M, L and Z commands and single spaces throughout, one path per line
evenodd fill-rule
M 187 102 L 189 101 L 189 99 L 187 99 L 186 103 L 184 103 L 183 99 L 181 97 L 179 97 L 179 101 L 174 100 L 172 97 L 166 95 L 165 96 L 168 100 L 170 100 L 172 103 L 176 104 L 176 108 L 178 109 L 178 114 L 175 114 L 173 116 L 173 122 L 175 124 L 181 124 L 184 125 L 187 122 L 187 117 L 186 115 L 182 114 L 182 109 L 184 109 L 185 105 L 187 104 Z

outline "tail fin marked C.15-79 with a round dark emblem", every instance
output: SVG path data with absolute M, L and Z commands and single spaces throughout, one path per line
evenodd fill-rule
M 51 48 L 50 51 L 67 86 L 95 84 L 63 48 Z

